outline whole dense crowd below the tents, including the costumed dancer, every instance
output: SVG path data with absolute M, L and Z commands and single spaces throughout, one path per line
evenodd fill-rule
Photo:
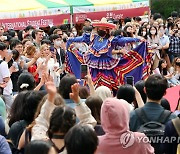
M 146 47 L 145 61 L 134 52 L 139 46 Z M 145 80 L 119 79 L 143 63 Z M 89 67 L 83 84 L 81 64 Z M 174 113 L 163 98 L 174 86 L 180 87 L 177 12 L 167 20 L 158 13 L 148 21 L 86 19 L 82 30 L 0 25 L 0 153 L 176 154 L 180 98 Z M 154 136 L 155 143 L 143 140 Z

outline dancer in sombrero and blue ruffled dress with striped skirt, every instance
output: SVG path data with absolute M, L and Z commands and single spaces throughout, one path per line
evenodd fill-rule
M 138 52 L 129 51 L 122 58 L 112 57 L 112 50 L 115 46 L 124 46 L 125 43 L 138 42 L 137 38 L 110 36 L 110 30 L 116 25 L 107 23 L 106 18 L 101 22 L 92 24 L 97 28 L 97 34 L 84 34 L 83 36 L 69 39 L 67 42 L 67 70 L 80 78 L 80 64 L 89 66 L 92 80 L 95 87 L 104 85 L 110 89 L 118 89 L 126 73 L 143 63 Z M 74 43 L 85 42 L 89 45 L 89 50 L 84 54 L 75 48 Z M 121 74 L 123 72 L 123 75 Z

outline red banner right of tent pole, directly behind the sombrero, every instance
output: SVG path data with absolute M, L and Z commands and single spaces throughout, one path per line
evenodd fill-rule
M 123 19 L 125 17 L 146 15 L 148 14 L 148 12 L 149 12 L 149 7 L 102 11 L 102 12 L 75 13 L 73 16 L 73 21 L 74 23 L 84 22 L 86 18 L 90 18 L 91 20 L 101 20 L 103 17 L 113 18 L 113 19 Z

